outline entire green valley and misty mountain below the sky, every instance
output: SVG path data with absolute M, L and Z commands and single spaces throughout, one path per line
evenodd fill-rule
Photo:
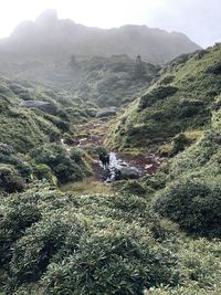
M 221 44 L 149 30 L 1 40 L 1 295 L 221 294 Z

